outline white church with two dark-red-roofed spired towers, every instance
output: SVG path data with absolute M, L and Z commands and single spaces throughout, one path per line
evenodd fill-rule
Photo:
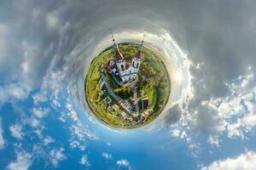
M 140 44 L 139 51 L 132 58 L 131 61 L 125 60 L 123 55 L 119 51 L 119 46 L 113 39 L 113 50 L 115 54 L 115 60 L 108 62 L 106 71 L 111 73 L 115 77 L 119 77 L 121 84 L 125 82 L 131 82 L 137 78 L 137 72 L 139 71 L 140 65 L 142 64 L 142 48 L 143 41 Z

